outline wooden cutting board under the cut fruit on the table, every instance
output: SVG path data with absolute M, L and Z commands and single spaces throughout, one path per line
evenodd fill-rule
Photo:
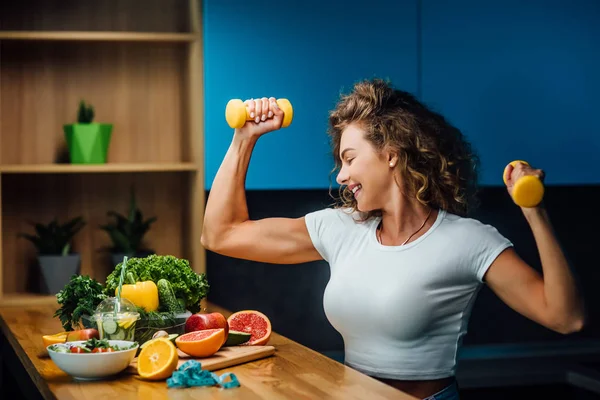
M 202 369 L 207 371 L 215 371 L 221 368 L 231 367 L 233 365 L 239 365 L 261 358 L 269 357 L 275 354 L 275 347 L 273 346 L 227 346 L 221 348 L 214 355 L 207 358 L 194 358 L 181 350 L 177 349 L 179 353 L 179 362 L 177 368 L 183 363 L 189 360 L 197 360 L 202 363 Z M 137 358 L 134 358 L 129 367 L 126 369 L 127 373 L 137 374 Z

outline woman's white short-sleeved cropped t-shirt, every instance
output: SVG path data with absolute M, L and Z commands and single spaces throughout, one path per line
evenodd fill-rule
M 331 268 L 323 305 L 344 339 L 345 363 L 380 378 L 453 376 L 483 276 L 512 243 L 444 210 L 404 246 L 377 241 L 380 218 L 358 222 L 358 214 L 327 208 L 305 220 Z

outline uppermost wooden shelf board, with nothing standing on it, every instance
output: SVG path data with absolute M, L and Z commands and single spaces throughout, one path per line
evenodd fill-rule
M 199 35 L 193 33 L 160 32 L 0 31 L 0 40 L 186 43 L 199 40 Z

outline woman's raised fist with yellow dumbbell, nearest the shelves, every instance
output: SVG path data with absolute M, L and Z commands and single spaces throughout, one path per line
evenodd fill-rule
M 294 110 L 290 101 L 288 99 L 276 100 L 274 97 L 246 101 L 232 99 L 225 108 L 225 120 L 234 129 L 242 128 L 247 121 L 260 124 L 268 122 L 271 118 L 273 118 L 273 123 L 279 125 L 276 129 L 287 128 L 294 118 Z

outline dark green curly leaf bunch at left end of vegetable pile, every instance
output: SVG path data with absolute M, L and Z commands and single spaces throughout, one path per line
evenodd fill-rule
M 92 315 L 106 298 L 102 285 L 86 275 L 73 275 L 69 283 L 56 294 L 60 307 L 54 313 L 65 331 L 77 329 L 83 315 Z

